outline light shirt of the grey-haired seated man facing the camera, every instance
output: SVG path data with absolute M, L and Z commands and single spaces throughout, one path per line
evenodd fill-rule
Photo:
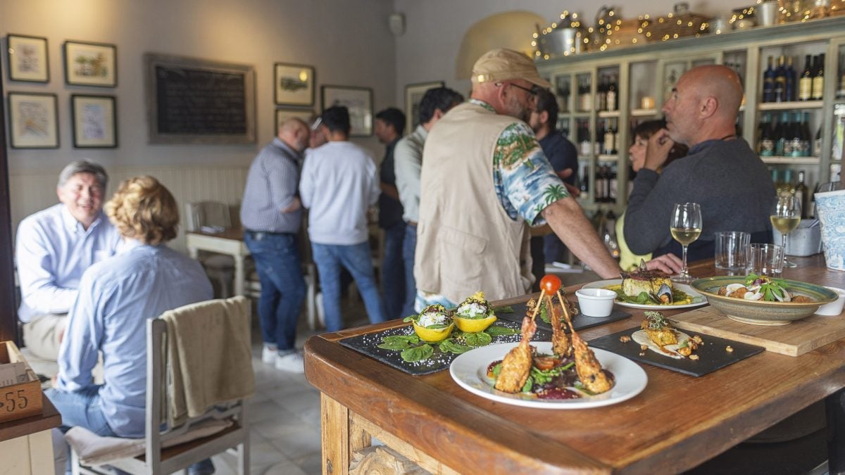
M 120 243 L 120 234 L 102 211 L 87 230 L 63 204 L 20 221 L 15 239 L 20 321 L 67 313 L 82 273 L 115 254 Z

